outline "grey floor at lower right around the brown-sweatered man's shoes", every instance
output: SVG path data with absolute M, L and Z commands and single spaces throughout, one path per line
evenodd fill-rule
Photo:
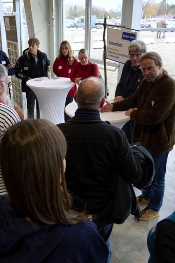
M 123 224 L 115 224 L 111 234 L 111 263 L 147 263 L 149 252 L 147 250 L 147 234 L 158 221 L 170 215 L 175 210 L 175 147 L 169 153 L 165 177 L 165 195 L 160 210 L 160 217 L 148 221 L 134 219 L 133 216 Z M 140 191 L 136 190 L 137 196 Z M 144 205 L 141 206 L 144 208 Z M 175 259 L 174 259 L 175 260 Z M 175 262 L 175 261 L 174 261 Z

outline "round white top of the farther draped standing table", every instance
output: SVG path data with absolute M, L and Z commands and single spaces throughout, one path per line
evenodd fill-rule
M 37 89 L 63 89 L 75 85 L 75 83 L 71 82 L 69 78 L 63 77 L 52 77 L 51 79 L 48 79 L 47 77 L 35 78 L 28 80 L 26 84 L 30 88 Z

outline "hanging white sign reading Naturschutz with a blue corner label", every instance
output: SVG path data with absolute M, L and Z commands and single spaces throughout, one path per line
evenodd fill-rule
M 137 32 L 108 28 L 106 58 L 125 64 L 129 59 L 128 45 L 137 39 Z

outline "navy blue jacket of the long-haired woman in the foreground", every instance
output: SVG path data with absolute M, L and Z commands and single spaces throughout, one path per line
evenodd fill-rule
M 37 223 L 32 228 L 7 196 L 0 198 L 1 263 L 106 263 L 108 248 L 93 222 Z

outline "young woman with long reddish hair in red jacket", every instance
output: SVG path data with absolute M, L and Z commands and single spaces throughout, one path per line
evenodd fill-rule
M 70 78 L 71 72 L 77 63 L 77 59 L 73 57 L 72 49 L 70 43 L 65 40 L 60 45 L 59 55 L 53 63 L 53 72 L 57 77 Z M 65 107 L 67 104 L 73 101 L 74 93 L 76 92 L 76 85 L 70 89 L 68 92 Z M 65 114 L 65 122 L 68 121 L 70 117 Z

